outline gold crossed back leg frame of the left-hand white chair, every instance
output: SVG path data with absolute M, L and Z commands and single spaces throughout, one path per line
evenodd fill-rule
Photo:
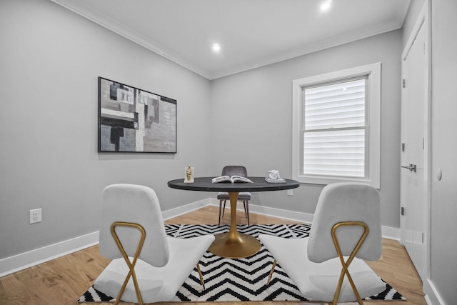
M 140 241 L 138 243 L 138 246 L 136 247 L 134 259 L 130 261 L 129 256 L 126 254 L 126 251 L 124 250 L 124 246 L 121 244 L 121 240 L 119 239 L 119 236 L 116 234 L 116 226 L 128 226 L 131 228 L 138 229 L 140 231 L 141 237 Z M 113 224 L 111 224 L 111 235 L 114 238 L 114 241 L 116 241 L 116 245 L 119 248 L 119 251 L 121 251 L 122 257 L 124 257 L 124 261 L 126 261 L 127 266 L 129 267 L 129 273 L 126 276 L 126 279 L 124 280 L 124 284 L 121 286 L 121 290 L 119 290 L 119 294 L 116 296 L 116 301 L 114 305 L 119 304 L 119 301 L 121 301 L 121 296 L 124 294 L 124 290 L 126 289 L 127 283 L 129 282 L 130 277 L 134 281 L 134 286 L 135 286 L 135 292 L 136 292 L 136 299 L 138 299 L 139 305 L 143 305 L 143 298 L 141 297 L 141 291 L 139 288 L 138 280 L 136 279 L 136 273 L 135 273 L 135 265 L 136 261 L 138 260 L 138 257 L 140 255 L 141 249 L 143 248 L 144 244 L 144 239 L 146 239 L 146 231 L 144 230 L 143 226 L 140 224 L 132 224 L 130 222 L 121 222 L 121 221 L 116 221 Z

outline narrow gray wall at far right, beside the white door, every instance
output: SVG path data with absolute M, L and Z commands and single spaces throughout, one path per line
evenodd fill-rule
M 457 242 L 457 1 L 433 0 L 431 281 L 444 304 L 456 304 Z M 436 172 L 443 171 L 438 181 Z M 428 287 L 427 287 L 428 289 Z M 430 294 L 430 291 L 426 291 Z M 438 302 L 433 303 L 438 304 Z

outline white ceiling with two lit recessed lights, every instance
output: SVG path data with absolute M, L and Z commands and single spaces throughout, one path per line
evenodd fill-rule
M 323 0 L 52 1 L 217 79 L 399 29 L 411 0 L 333 0 L 328 11 Z

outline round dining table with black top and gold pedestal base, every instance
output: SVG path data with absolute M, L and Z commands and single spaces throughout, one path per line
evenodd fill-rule
M 236 228 L 236 203 L 238 193 L 241 191 L 281 191 L 296 189 L 300 183 L 291 179 L 285 182 L 267 182 L 265 177 L 248 177 L 252 183 L 244 182 L 220 182 L 213 183 L 213 177 L 196 177 L 193 183 L 184 182 L 184 179 L 168 181 L 167 185 L 172 189 L 184 189 L 187 191 L 225 191 L 230 198 L 230 229 L 229 232 L 216 234 L 216 239 L 209 247 L 209 251 L 217 256 L 239 259 L 256 254 L 261 248 L 260 241 L 255 237 L 239 233 Z

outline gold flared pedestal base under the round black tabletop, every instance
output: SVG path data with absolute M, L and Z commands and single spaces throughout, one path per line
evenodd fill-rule
M 236 202 L 238 192 L 229 192 L 230 196 L 230 230 L 228 233 L 217 234 L 216 240 L 209 246 L 209 251 L 227 259 L 241 259 L 256 254 L 261 244 L 258 239 L 248 234 L 239 233 L 236 229 Z

